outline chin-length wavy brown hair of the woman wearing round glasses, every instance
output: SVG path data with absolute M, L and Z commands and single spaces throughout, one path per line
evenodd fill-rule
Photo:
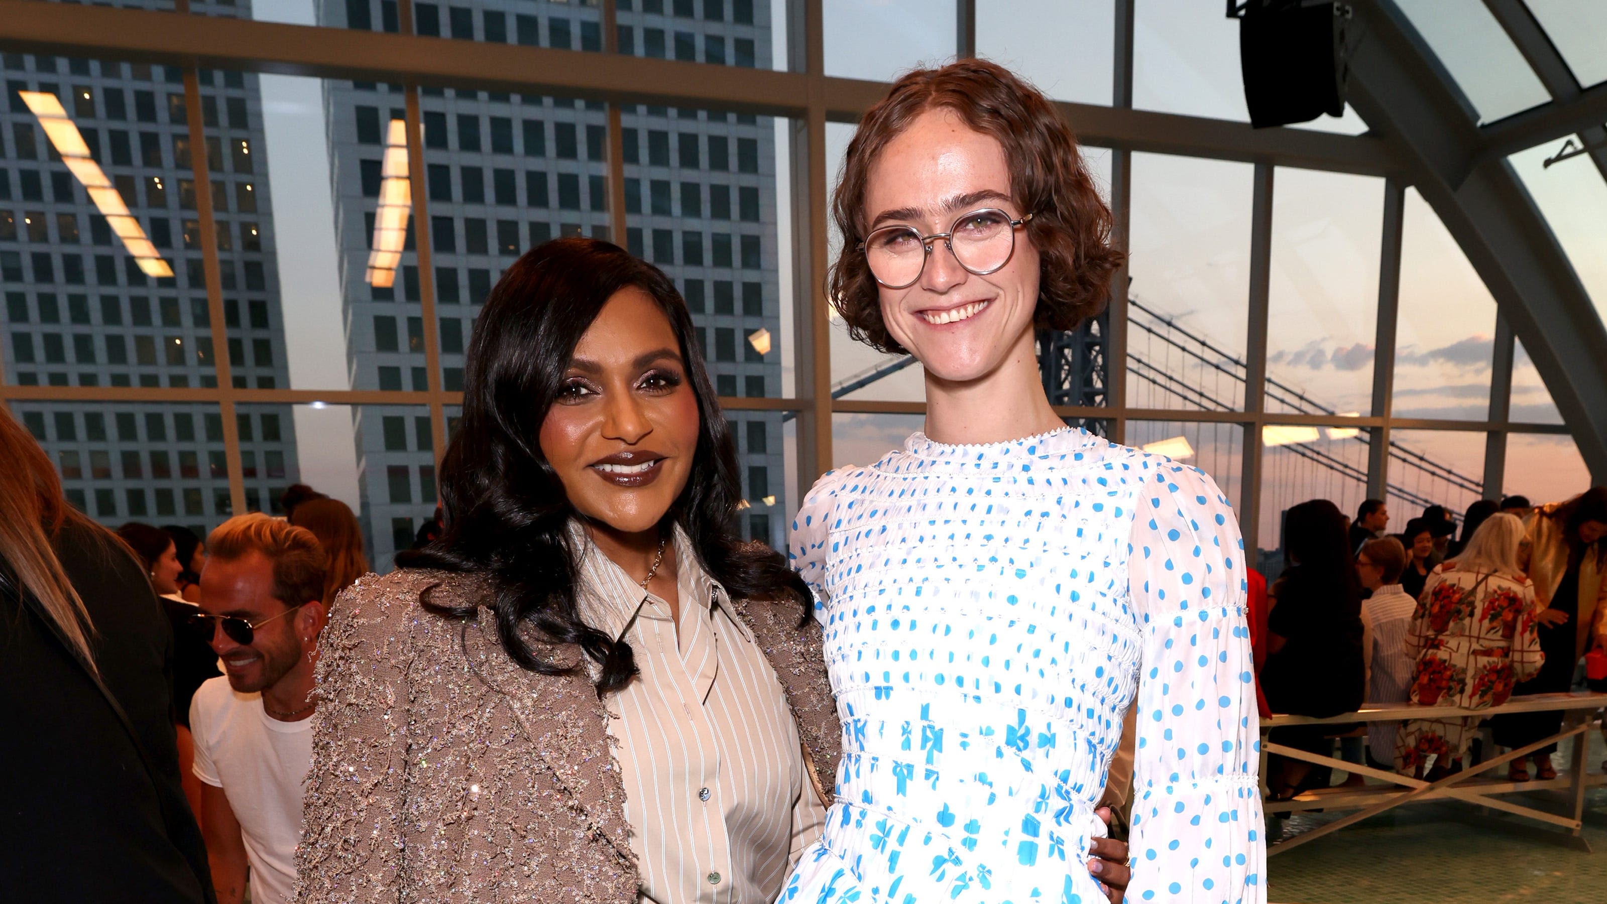
M 826 275 L 826 297 L 848 324 L 848 336 L 877 352 L 903 352 L 882 323 L 876 278 L 858 249 L 868 231 L 865 189 L 882 148 L 937 108 L 955 111 L 966 125 L 1004 146 L 1011 196 L 1024 214 L 1033 214 L 1027 238 L 1038 249 L 1043 268 L 1033 324 L 1077 329 L 1104 310 L 1122 252 L 1110 247 L 1110 209 L 1077 153 L 1077 138 L 1049 101 L 1009 69 L 985 59 L 961 59 L 898 79 L 865 114 L 848 143 L 842 181 L 831 199 L 842 254 Z

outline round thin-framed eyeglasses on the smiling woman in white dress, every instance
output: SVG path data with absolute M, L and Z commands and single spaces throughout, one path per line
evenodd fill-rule
M 972 210 L 955 220 L 947 233 L 922 236 L 914 226 L 882 226 L 860 242 L 871 276 L 887 289 L 914 286 L 932 257 L 932 242 L 943 239 L 955 260 L 967 273 L 987 276 L 1009 263 L 1016 254 L 1016 230 L 1032 220 L 1032 214 L 1012 220 L 996 207 Z

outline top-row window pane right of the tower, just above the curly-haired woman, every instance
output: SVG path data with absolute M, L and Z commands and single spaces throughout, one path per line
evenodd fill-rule
M 824 0 L 826 74 L 892 82 L 955 56 L 955 0 Z

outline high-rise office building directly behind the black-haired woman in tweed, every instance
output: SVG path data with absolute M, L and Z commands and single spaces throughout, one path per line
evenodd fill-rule
M 768 3 L 620 0 L 617 10 L 620 53 L 747 67 L 771 56 Z M 389 0 L 320 0 L 318 11 L 325 26 L 399 27 Z M 419 35 L 603 51 L 599 11 L 588 3 L 471 0 L 415 3 L 413 11 Z M 501 271 L 550 238 L 611 238 L 607 111 L 466 88 L 423 88 L 419 106 L 440 384 L 458 390 L 479 307 Z M 403 108 L 395 85 L 325 82 L 354 389 L 427 389 L 416 254 L 403 252 L 392 287 L 366 281 L 384 141 Z M 622 140 L 624 244 L 685 294 L 720 395 L 781 395 L 775 122 L 627 106 Z M 384 406 L 354 417 L 362 515 L 384 570 L 435 506 L 429 417 L 423 408 Z M 779 548 L 783 416 L 738 411 L 730 421 L 749 503 L 742 535 Z

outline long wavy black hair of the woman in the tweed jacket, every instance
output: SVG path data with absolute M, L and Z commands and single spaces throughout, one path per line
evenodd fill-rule
M 736 599 L 792 597 L 808 617 L 804 580 L 779 552 L 742 543 L 734 531 L 741 477 L 736 446 L 697 352 L 691 315 L 675 284 L 619 246 L 583 238 L 554 239 L 514 262 L 492 289 L 469 342 L 463 419 L 440 462 L 445 533 L 424 549 L 399 552 L 403 568 L 482 572 L 497 580 L 497 629 L 522 668 L 566 674 L 521 637 L 534 626 L 543 641 L 577 644 L 601 665 L 598 694 L 636 674 L 624 639 L 580 618 L 575 575 L 580 549 L 569 541 L 574 509 L 542 454 L 538 437 L 564 385 L 575 345 L 615 292 L 636 287 L 670 321 L 697 398 L 699 435 L 686 488 L 665 522 L 680 525 L 704 570 Z M 468 617 L 477 602 L 424 609 Z

